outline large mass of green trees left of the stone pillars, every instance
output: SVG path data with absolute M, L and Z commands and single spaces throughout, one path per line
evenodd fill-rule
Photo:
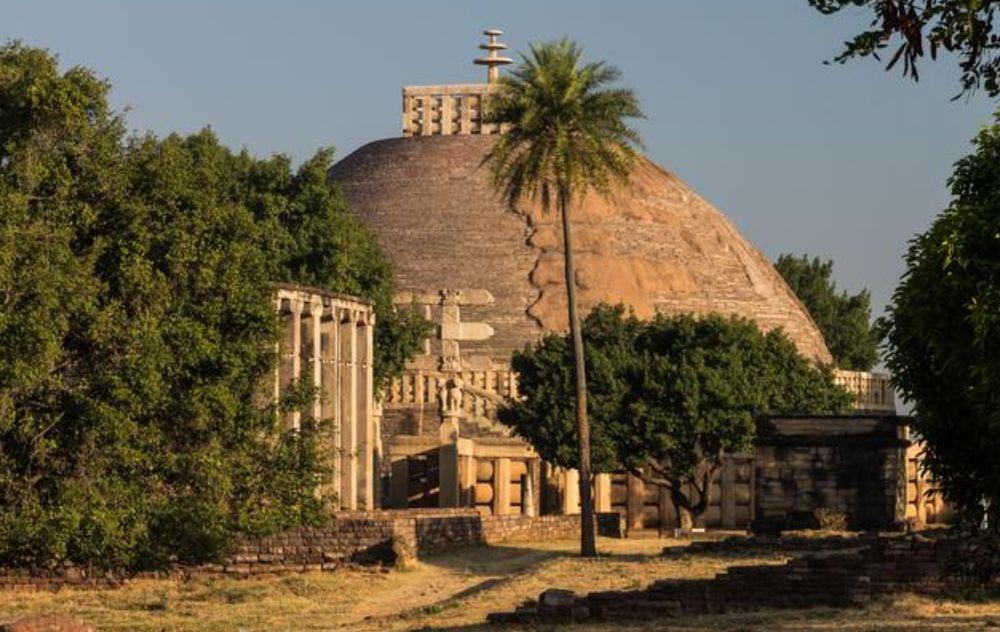
M 197 561 L 325 518 L 323 429 L 289 436 L 258 396 L 275 281 L 371 297 L 385 356 L 412 340 L 329 152 L 129 139 L 108 88 L 0 48 L 0 565 Z

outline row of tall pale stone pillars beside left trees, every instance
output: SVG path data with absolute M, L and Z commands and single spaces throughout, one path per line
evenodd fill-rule
M 341 509 L 376 509 L 376 472 L 381 441 L 373 393 L 372 306 L 333 293 L 282 287 L 275 297 L 283 319 L 274 398 L 294 384 L 309 384 L 316 393 L 311 406 L 284 417 L 297 431 L 303 414 L 330 422 L 325 439 L 333 448 L 331 490 Z

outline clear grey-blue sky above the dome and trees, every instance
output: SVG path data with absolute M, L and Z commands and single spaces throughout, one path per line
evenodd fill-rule
M 569 35 L 624 71 L 654 160 L 768 256 L 833 258 L 878 313 L 995 104 L 950 101 L 951 60 L 916 85 L 874 61 L 824 66 L 864 17 L 806 0 L 3 0 L 0 39 L 95 69 L 137 130 L 211 125 L 234 147 L 301 160 L 398 135 L 403 85 L 481 81 L 470 61 L 485 27 L 515 52 Z

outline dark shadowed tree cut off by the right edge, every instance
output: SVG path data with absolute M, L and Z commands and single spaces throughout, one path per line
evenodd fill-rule
M 1000 118 L 998 118 L 1000 121 Z M 949 501 L 1000 526 L 1000 123 L 974 141 L 952 202 L 917 236 L 880 323 L 886 363 L 914 406 L 926 463 Z

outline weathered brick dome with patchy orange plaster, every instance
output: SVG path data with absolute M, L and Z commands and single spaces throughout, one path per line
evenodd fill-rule
M 462 321 L 492 328 L 463 341 L 462 356 L 502 362 L 544 332 L 566 328 L 565 291 L 558 218 L 505 207 L 480 164 L 492 142 L 487 135 L 380 140 L 338 162 L 330 176 L 395 264 L 399 290 L 487 297 L 462 306 Z M 643 158 L 628 187 L 607 200 L 589 195 L 572 212 L 584 311 L 622 301 L 640 316 L 739 314 L 763 329 L 783 327 L 803 354 L 830 361 L 771 263 L 666 169 Z

